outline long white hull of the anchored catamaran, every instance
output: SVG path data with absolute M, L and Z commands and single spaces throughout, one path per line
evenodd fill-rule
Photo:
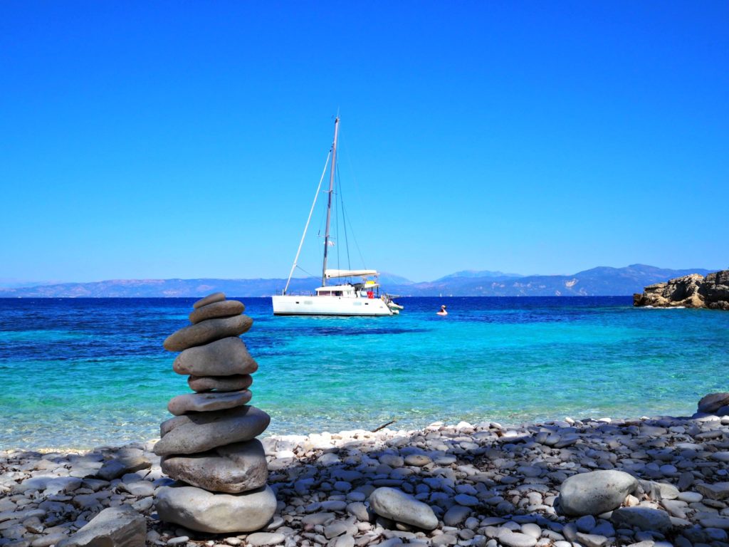
M 393 315 L 381 298 L 341 296 L 273 296 L 274 315 Z

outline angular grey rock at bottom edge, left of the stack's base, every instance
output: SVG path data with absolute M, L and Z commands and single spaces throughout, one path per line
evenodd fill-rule
M 129 505 L 109 507 L 98 513 L 56 547 L 144 547 L 147 520 Z

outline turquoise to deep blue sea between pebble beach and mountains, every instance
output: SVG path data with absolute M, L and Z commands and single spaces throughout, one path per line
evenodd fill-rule
M 235 298 L 229 296 L 229 298 Z M 146 441 L 189 392 L 162 341 L 193 298 L 0 299 L 0 448 Z M 729 313 L 631 298 L 402 298 L 398 317 L 273 317 L 240 298 L 270 433 L 687 415 L 729 390 Z M 435 314 L 440 304 L 450 314 Z

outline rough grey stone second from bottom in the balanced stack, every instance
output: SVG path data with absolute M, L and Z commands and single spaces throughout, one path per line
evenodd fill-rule
M 163 457 L 162 471 L 192 486 L 229 494 L 260 488 L 268 479 L 266 456 L 258 439 L 219 446 L 202 454 Z

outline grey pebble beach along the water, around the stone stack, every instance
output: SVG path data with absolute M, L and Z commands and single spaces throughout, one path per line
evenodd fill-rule
M 158 519 L 155 441 L 0 451 L 0 546 L 729 546 L 729 394 L 699 410 L 264 438 L 278 505 L 245 534 Z

